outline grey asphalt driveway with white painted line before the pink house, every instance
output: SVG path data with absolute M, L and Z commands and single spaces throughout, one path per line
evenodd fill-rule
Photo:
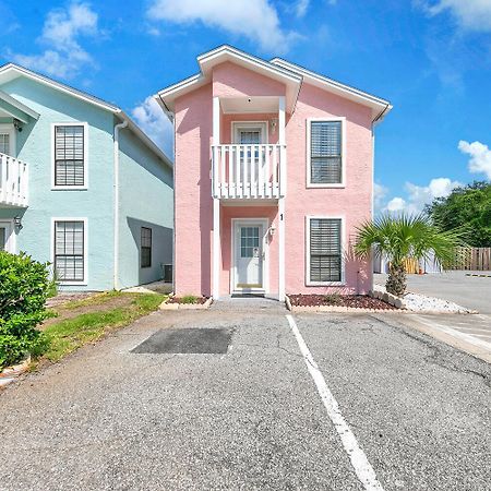
M 286 314 L 158 312 L 11 385 L 0 489 L 491 490 L 490 366 L 396 315 Z M 228 352 L 131 352 L 189 327 Z

